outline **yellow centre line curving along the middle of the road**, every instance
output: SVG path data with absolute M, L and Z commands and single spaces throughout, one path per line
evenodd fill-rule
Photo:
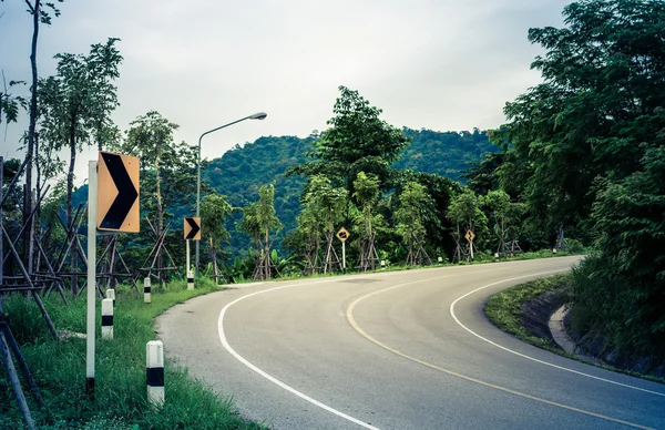
M 449 277 L 449 276 L 446 276 L 446 277 Z M 521 392 L 521 391 L 511 390 L 510 388 L 505 388 L 505 387 L 497 386 L 497 385 L 493 385 L 493 383 L 490 383 L 490 382 L 481 381 L 480 379 L 475 379 L 475 378 L 472 378 L 472 377 L 467 376 L 467 375 L 458 373 L 457 371 L 444 369 L 444 368 L 439 367 L 437 365 L 432 365 L 431 362 L 427 362 L 427 361 L 423 361 L 423 360 L 421 360 L 419 358 L 411 357 L 411 356 L 409 356 L 409 355 L 407 355 L 405 352 L 401 352 L 401 351 L 399 351 L 399 350 L 397 350 L 395 348 L 391 348 L 388 345 L 381 342 L 380 340 L 377 340 L 376 338 L 371 337 L 367 331 L 365 331 L 358 325 L 358 322 L 356 321 L 356 318 L 354 318 L 354 309 L 356 308 L 356 305 L 358 305 L 360 301 L 365 300 L 368 297 L 371 297 L 371 296 L 380 294 L 380 293 L 386 293 L 386 291 L 395 289 L 395 288 L 405 287 L 407 285 L 417 284 L 417 283 L 424 283 L 424 281 L 428 281 L 428 280 L 438 280 L 438 279 L 441 279 L 441 278 L 439 277 L 439 278 L 413 280 L 413 281 L 410 281 L 410 283 L 396 285 L 396 286 L 392 286 L 392 287 L 389 287 L 389 288 L 385 288 L 385 289 L 380 289 L 378 291 L 374 291 L 374 293 L 367 294 L 367 295 L 365 295 L 365 296 L 356 299 L 352 304 L 349 305 L 349 307 L 347 309 L 347 319 L 348 319 L 349 324 L 351 325 L 351 327 L 354 327 L 354 329 L 356 331 L 358 331 L 367 340 L 371 341 L 372 344 L 375 344 L 375 345 L 377 345 L 377 346 L 379 346 L 379 347 L 381 347 L 381 348 L 383 348 L 383 349 L 386 349 L 386 350 L 388 350 L 388 351 L 390 351 L 390 352 L 392 352 L 392 354 L 395 354 L 397 356 L 403 357 L 403 358 L 406 358 L 408 360 L 411 360 L 413 362 L 417 362 L 419 365 L 429 367 L 430 369 L 439 370 L 439 371 L 441 371 L 443 373 L 451 375 L 451 376 L 454 376 L 454 377 L 468 380 L 470 382 L 475 382 L 475 383 L 479 383 L 479 385 L 484 386 L 484 387 L 493 388 L 495 390 L 503 391 L 503 392 L 509 392 L 509 393 L 514 395 L 514 396 L 519 396 L 519 397 L 522 397 L 522 398 L 525 398 L 525 399 L 530 399 L 530 400 L 534 400 L 534 401 L 538 401 L 538 402 L 541 402 L 541 403 L 554 406 L 556 408 L 566 409 L 566 410 L 571 410 L 571 411 L 574 411 L 574 412 L 580 412 L 580 413 L 583 413 L 583 414 L 586 414 L 586 416 L 590 416 L 590 417 L 600 418 L 600 419 L 603 419 L 603 420 L 606 420 L 606 421 L 617 422 L 620 424 L 633 427 L 635 429 L 654 430 L 651 427 L 641 426 L 641 424 L 637 424 L 635 422 L 624 421 L 624 420 L 621 420 L 618 418 L 607 417 L 607 416 L 604 416 L 602 413 L 596 413 L 596 412 L 587 411 L 587 410 L 584 410 L 584 409 L 575 408 L 575 407 L 572 407 L 572 406 L 557 403 L 557 402 L 552 401 L 552 400 L 542 399 L 540 397 L 526 395 L 526 393 Z

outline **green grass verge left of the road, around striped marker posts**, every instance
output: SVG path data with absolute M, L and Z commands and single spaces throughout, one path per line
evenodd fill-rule
M 119 289 L 114 310 L 114 339 L 100 339 L 101 310 L 98 300 L 95 398 L 85 395 L 85 339 L 53 339 L 33 301 L 6 296 L 12 332 L 21 344 L 30 369 L 42 390 L 45 408 L 34 402 L 24 388 L 32 416 L 42 429 L 264 429 L 247 422 L 234 410 L 231 397 L 215 395 L 187 376 L 165 356 L 165 403 L 152 408 L 146 400 L 145 344 L 156 338 L 157 315 L 194 296 L 219 290 L 206 279 L 196 289 L 176 281 L 153 286 L 152 304 L 143 294 Z M 44 300 L 58 330 L 85 332 L 85 294 L 64 306 L 52 295 Z M 13 391 L 6 372 L 0 375 L 0 429 L 22 428 Z

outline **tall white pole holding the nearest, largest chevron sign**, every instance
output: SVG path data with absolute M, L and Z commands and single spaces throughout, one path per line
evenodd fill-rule
M 94 319 L 96 293 L 98 162 L 88 163 L 88 336 L 85 391 L 94 397 Z

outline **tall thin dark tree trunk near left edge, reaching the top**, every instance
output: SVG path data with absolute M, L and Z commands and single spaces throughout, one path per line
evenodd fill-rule
M 30 3 L 29 3 L 30 4 Z M 23 208 L 23 223 L 28 222 L 28 228 L 23 235 L 23 257 L 27 263 L 28 273 L 32 273 L 32 237 L 34 235 L 34 218 L 30 217 L 32 209 L 32 162 L 34 154 L 34 130 L 37 127 L 37 84 L 39 82 L 37 74 L 37 40 L 39 37 L 39 19 L 40 19 L 40 1 L 34 0 L 34 7 L 32 7 L 32 44 L 30 50 L 30 66 L 32 70 L 32 88 L 30 94 L 30 125 L 28 127 L 28 152 L 25 158 L 28 158 L 28 165 L 25 166 L 25 193 L 27 201 L 24 202 Z M 25 212 L 27 211 L 27 212 Z

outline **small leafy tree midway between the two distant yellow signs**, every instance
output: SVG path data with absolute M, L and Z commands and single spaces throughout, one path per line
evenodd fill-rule
M 426 235 L 424 211 L 429 195 L 423 185 L 417 182 L 408 182 L 398 198 L 399 208 L 395 212 L 395 218 L 398 223 L 397 232 L 409 244 L 407 264 L 411 266 L 417 262 L 421 264 L 423 258 L 422 244 Z

